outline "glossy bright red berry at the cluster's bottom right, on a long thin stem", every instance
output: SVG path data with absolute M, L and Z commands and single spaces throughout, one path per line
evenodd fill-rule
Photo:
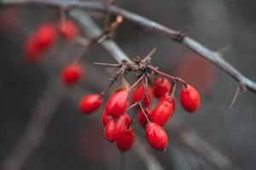
M 168 144 L 168 136 L 166 131 L 154 122 L 150 122 L 145 128 L 148 143 L 155 150 L 166 150 Z

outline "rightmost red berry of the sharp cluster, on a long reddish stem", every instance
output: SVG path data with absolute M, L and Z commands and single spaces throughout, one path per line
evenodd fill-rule
M 196 111 L 200 105 L 200 95 L 197 90 L 190 85 L 183 87 L 179 94 L 179 102 L 185 111 L 190 113 Z

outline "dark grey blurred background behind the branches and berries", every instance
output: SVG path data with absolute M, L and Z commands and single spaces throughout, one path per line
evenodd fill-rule
M 214 50 L 224 49 L 224 59 L 256 81 L 255 1 L 118 0 L 116 5 L 175 30 L 188 28 L 189 37 Z M 104 14 L 88 14 L 99 26 L 104 25 Z M 38 138 L 41 140 L 36 142 L 35 149 L 23 160 L 21 169 L 148 169 L 147 162 L 138 153 L 141 145 L 123 156 L 114 144 L 103 139 L 103 107 L 90 116 L 79 113 L 79 99 L 84 94 L 101 92 L 108 85 L 108 77 L 114 75 L 114 69 L 92 64 L 116 62 L 108 51 L 97 45 L 86 55 L 82 63 L 83 80 L 74 88 L 63 86 L 60 74 L 65 65 L 83 54 L 84 47 L 79 43 L 66 42 L 59 37 L 39 63 L 31 64 L 24 59 L 23 48 L 29 33 L 42 23 L 56 23 L 59 15 L 60 10 L 55 8 L 0 7 L 0 164 L 10 158 L 16 144 L 26 136 L 27 124 L 32 119 L 35 127 L 40 122 L 47 122 L 49 126 L 45 127 L 42 138 Z M 86 37 L 81 27 L 80 31 Z M 152 63 L 162 71 L 182 77 L 200 91 L 200 110 L 189 115 L 177 105 L 168 122 L 170 125 L 165 126 L 170 140 L 166 151 L 148 147 L 143 129 L 138 125 L 135 127 L 140 144 L 163 169 L 221 169 L 207 161 L 198 150 L 189 148 L 186 144 L 192 143 L 182 138 L 184 132 L 196 133 L 232 166 L 248 170 L 256 168 L 255 94 L 240 94 L 229 109 L 237 82 L 216 65 L 128 20 L 119 26 L 113 39 L 131 59 L 137 55 L 145 56 L 156 47 Z M 39 118 L 33 118 L 36 114 Z M 44 119 L 45 114 L 47 119 Z M 41 128 L 44 131 L 44 126 L 38 128 L 39 132 Z M 35 133 L 31 138 L 37 138 L 37 135 L 41 134 Z M 208 154 L 203 148 L 199 151 Z M 19 156 L 12 158 L 22 160 Z M 221 156 L 217 154 L 220 164 L 224 160 Z M 15 162 L 9 164 L 13 166 L 9 169 L 15 169 Z M 233 169 L 232 166 L 228 165 L 226 169 Z

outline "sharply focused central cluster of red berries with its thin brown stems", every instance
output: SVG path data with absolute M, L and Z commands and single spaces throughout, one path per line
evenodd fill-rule
M 109 65 L 113 64 L 101 64 Z M 134 123 L 137 116 L 138 122 L 144 128 L 148 144 L 155 150 L 166 150 L 168 136 L 163 129 L 163 125 L 172 117 L 176 101 L 174 92 L 177 82 L 183 83 L 180 91 L 179 101 L 185 111 L 195 112 L 200 105 L 200 95 L 197 90 L 178 77 L 172 77 L 157 70 L 150 64 L 150 57 L 139 59 L 135 64 L 123 62 L 119 65 L 116 77 L 111 79 L 110 86 L 101 94 L 88 94 L 81 99 L 79 109 L 85 115 L 96 111 L 102 105 L 102 97 L 108 89 L 116 82 L 118 77 L 122 77 L 122 86 L 115 90 L 106 101 L 105 109 L 102 113 L 104 125 L 104 138 L 111 143 L 115 143 L 121 151 L 130 150 L 135 141 Z M 125 73 L 133 72 L 137 75 L 137 81 L 131 86 L 125 80 Z M 154 72 L 154 83 L 149 85 Z M 171 79 L 172 83 L 167 79 Z M 154 109 L 150 109 L 152 101 L 158 100 Z M 131 105 L 129 105 L 131 103 Z M 128 111 L 134 110 L 134 114 L 129 116 Z

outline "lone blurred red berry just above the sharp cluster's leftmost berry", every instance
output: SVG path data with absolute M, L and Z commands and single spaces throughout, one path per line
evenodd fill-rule
M 68 65 L 62 71 L 61 78 L 67 86 L 72 86 L 76 82 L 79 82 L 80 78 L 83 76 L 83 70 L 80 65 L 72 64 Z

